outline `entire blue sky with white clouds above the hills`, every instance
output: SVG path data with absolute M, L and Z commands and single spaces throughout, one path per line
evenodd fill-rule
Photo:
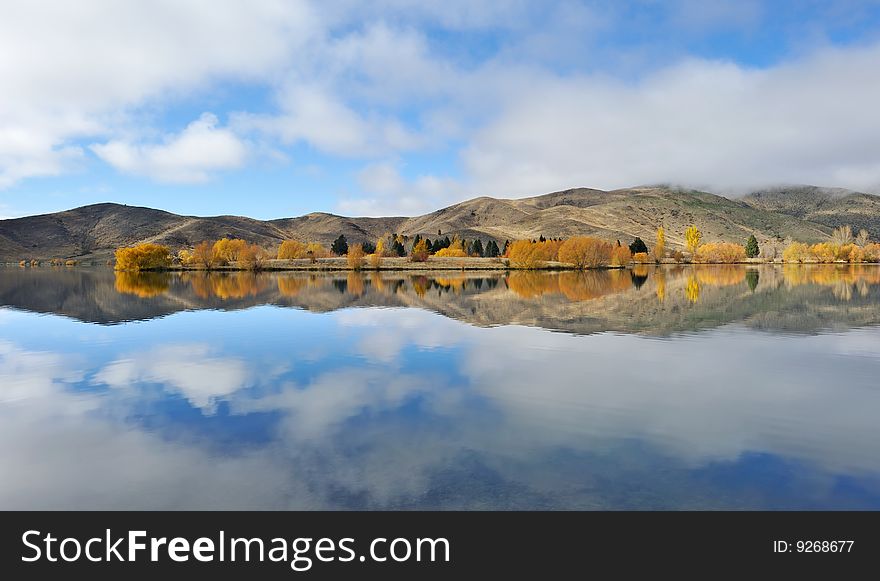
M 0 217 L 880 189 L 880 2 L 12 1 Z

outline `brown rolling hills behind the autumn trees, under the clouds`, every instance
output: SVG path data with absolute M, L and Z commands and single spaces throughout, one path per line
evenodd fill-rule
M 191 247 L 202 240 L 236 237 L 266 248 L 292 238 L 329 245 L 385 232 L 434 238 L 569 237 L 592 234 L 649 244 L 659 224 L 667 244 L 684 245 L 684 229 L 696 224 L 705 241 L 743 242 L 754 234 L 762 247 L 785 240 L 815 242 L 832 228 L 851 224 L 880 238 L 880 197 L 847 190 L 796 186 L 752 193 L 742 199 L 662 186 L 614 191 L 576 188 L 521 199 L 480 197 L 415 217 L 349 218 L 312 213 L 261 221 L 240 216 L 179 216 L 162 210 L 104 203 L 65 212 L 0 220 L 0 261 L 79 258 L 105 260 L 113 250 L 139 242 Z

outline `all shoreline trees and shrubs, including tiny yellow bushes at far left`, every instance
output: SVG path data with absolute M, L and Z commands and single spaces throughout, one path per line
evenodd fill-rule
M 285 240 L 267 249 L 245 240 L 222 238 L 182 248 L 175 254 L 160 244 L 119 248 L 113 263 L 122 271 L 171 270 L 586 270 L 626 268 L 635 264 L 763 264 L 880 262 L 880 244 L 862 230 L 834 230 L 831 239 L 808 246 L 791 242 L 782 253 L 762 253 L 754 235 L 743 244 L 703 242 L 696 226 L 684 231 L 686 252 L 667 251 L 666 232 L 657 229 L 653 248 L 635 238 L 629 244 L 591 236 L 484 243 L 448 236 L 433 242 L 416 235 L 385 234 L 375 243 L 349 244 L 340 235 L 330 248 L 317 242 Z M 59 262 L 53 261 L 53 264 Z M 22 261 L 21 266 L 35 266 Z M 69 263 L 66 263 L 70 266 Z

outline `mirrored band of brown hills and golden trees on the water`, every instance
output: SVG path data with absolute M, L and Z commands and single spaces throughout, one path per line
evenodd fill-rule
M 416 307 L 475 325 L 666 335 L 731 322 L 816 332 L 880 322 L 880 267 L 637 265 L 630 270 L 499 274 L 113 273 L 6 270 L 0 305 L 120 323 L 259 305 L 332 311 Z M 857 307 L 857 308 L 855 308 Z M 794 315 L 797 316 L 794 316 Z

